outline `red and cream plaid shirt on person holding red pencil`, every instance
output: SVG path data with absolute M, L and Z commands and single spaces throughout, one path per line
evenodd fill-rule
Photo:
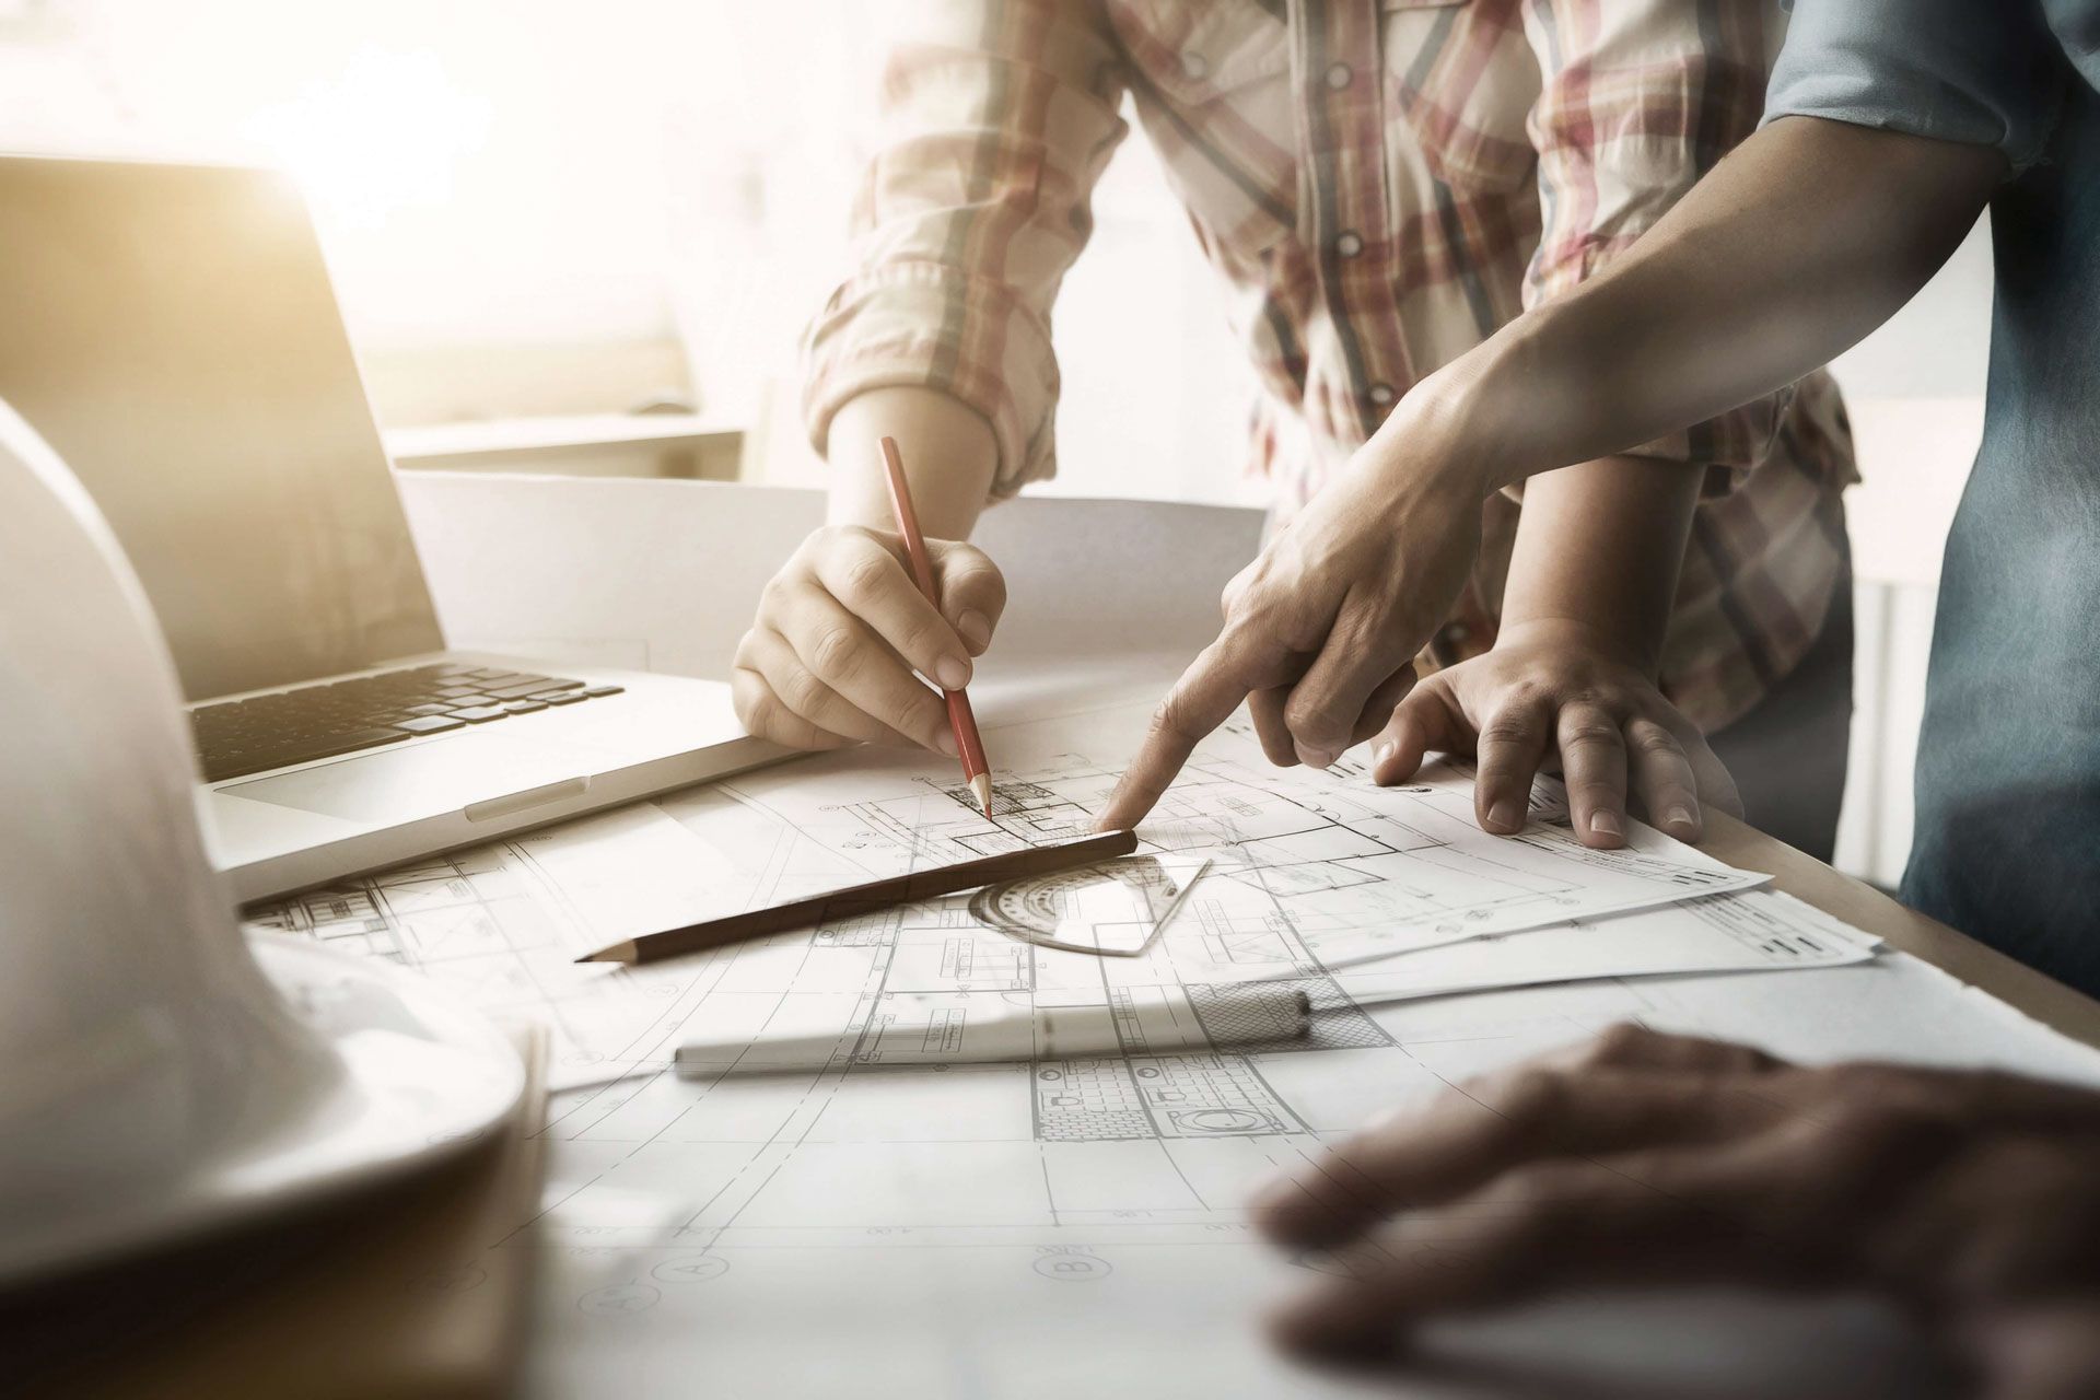
M 1052 474 L 1050 309 L 1128 94 L 1231 292 L 1262 382 L 1252 466 L 1285 516 L 1415 380 L 1606 267 L 1747 136 L 1781 40 L 1764 0 L 909 8 L 857 271 L 808 332 L 813 441 L 853 395 L 922 384 L 991 424 L 998 495 Z M 1714 730 L 1848 577 L 1844 409 L 1816 374 L 1638 453 L 1707 468 L 1661 680 Z M 1518 510 L 1487 502 L 1432 659 L 1493 644 Z

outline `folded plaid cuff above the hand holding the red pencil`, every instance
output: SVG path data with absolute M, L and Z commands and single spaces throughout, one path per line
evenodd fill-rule
M 802 422 L 823 453 L 832 418 L 872 388 L 934 388 L 1000 447 L 991 497 L 1056 474 L 1058 372 L 1050 332 L 998 281 L 939 262 L 888 262 L 832 294 L 802 344 Z

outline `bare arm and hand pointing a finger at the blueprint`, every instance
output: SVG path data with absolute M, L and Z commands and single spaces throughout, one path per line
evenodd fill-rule
M 1932 277 L 2003 174 L 1991 145 L 1814 118 L 1745 141 L 1611 271 L 1401 401 L 1235 581 L 1224 630 L 1159 705 L 1102 825 L 1149 812 L 1256 688 L 1289 686 L 1292 733 L 1317 751 L 1376 733 L 1365 705 L 1449 613 L 1489 491 L 1825 363 Z

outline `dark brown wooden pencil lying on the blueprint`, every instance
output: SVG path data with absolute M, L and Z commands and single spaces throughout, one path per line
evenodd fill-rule
M 1008 850 L 998 856 L 962 861 L 960 865 L 939 865 L 924 871 L 911 871 L 909 875 L 869 879 L 867 884 L 848 886 L 844 890 L 798 898 L 790 905 L 731 913 L 720 919 L 687 924 L 685 928 L 668 928 L 659 934 L 643 934 L 638 938 L 607 945 L 596 953 L 584 953 L 575 961 L 653 963 L 664 957 L 718 949 L 727 942 L 764 938 L 766 934 L 785 934 L 796 928 L 821 924 L 834 915 L 874 913 L 895 905 L 914 905 L 922 898 L 974 890 L 1002 879 L 1027 879 L 1031 875 L 1069 871 L 1082 865 L 1094 865 L 1096 861 L 1128 856 L 1136 848 L 1138 837 L 1130 831 L 1100 831 L 1096 835 L 1084 835 L 1075 842 Z

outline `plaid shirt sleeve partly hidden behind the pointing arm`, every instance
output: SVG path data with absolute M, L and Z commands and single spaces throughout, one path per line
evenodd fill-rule
M 1527 0 L 1525 34 L 1541 71 L 1527 130 L 1544 214 L 1527 309 L 1611 267 L 1758 128 L 1779 40 L 1770 6 L 1712 0 L 1699 10 L 1693 25 L 1672 4 Z M 1754 399 L 1630 455 L 1726 468 L 1709 485 L 1728 489 L 1770 453 L 1791 395 Z

